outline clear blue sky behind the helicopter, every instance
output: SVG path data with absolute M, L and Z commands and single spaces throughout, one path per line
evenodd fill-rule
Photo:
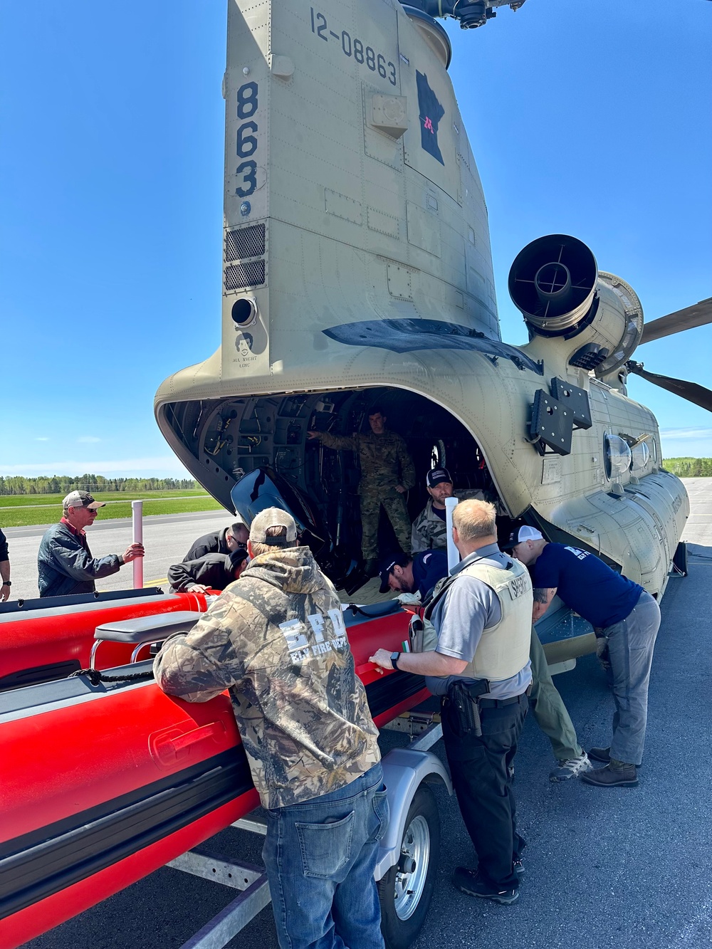
M 303 2 L 303 0 L 294 0 Z M 219 344 L 226 5 L 0 0 L 0 474 L 182 474 L 160 381 Z M 712 295 L 712 3 L 528 0 L 448 21 L 502 336 L 516 253 L 571 233 L 648 320 Z M 648 344 L 710 384 L 712 326 Z M 665 455 L 712 416 L 635 379 Z

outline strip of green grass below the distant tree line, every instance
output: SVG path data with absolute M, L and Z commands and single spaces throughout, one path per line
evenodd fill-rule
M 24 528 L 52 524 L 62 516 L 63 494 L 0 494 L 0 528 Z M 97 492 L 105 501 L 97 520 L 131 516 L 131 501 L 143 501 L 143 515 L 182 514 L 194 511 L 221 511 L 210 494 L 197 491 Z

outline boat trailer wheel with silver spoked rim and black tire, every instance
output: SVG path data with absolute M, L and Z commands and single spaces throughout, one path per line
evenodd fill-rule
M 401 858 L 378 883 L 386 949 L 407 949 L 417 938 L 433 896 L 440 858 L 440 816 L 433 792 L 416 791 L 401 841 Z

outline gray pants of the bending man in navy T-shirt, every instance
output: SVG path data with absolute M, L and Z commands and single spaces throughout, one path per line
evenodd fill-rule
M 644 590 L 625 620 L 604 629 L 615 700 L 610 756 L 632 765 L 643 760 L 647 685 L 659 626 L 660 607 Z

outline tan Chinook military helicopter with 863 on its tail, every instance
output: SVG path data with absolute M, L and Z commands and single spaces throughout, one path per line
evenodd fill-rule
M 633 289 L 552 234 L 510 272 L 530 342 L 501 341 L 484 195 L 434 18 L 478 27 L 501 2 L 229 0 L 222 344 L 163 382 L 156 415 L 226 508 L 250 520 L 281 495 L 347 592 L 365 579 L 357 462 L 307 432 L 357 432 L 378 401 L 422 475 L 412 515 L 444 464 L 456 487 L 496 495 L 503 531 L 532 524 L 660 596 L 688 501 L 627 377 L 712 408 L 701 386 L 631 362 L 712 321 L 712 301 L 644 327 Z

